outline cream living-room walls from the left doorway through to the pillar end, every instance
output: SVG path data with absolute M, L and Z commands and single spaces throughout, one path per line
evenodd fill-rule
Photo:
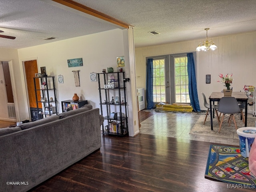
M 74 93 L 78 94 L 80 99 L 88 100 L 93 108 L 100 108 L 98 82 L 90 81 L 90 73 L 100 73 L 102 69 L 107 69 L 108 67 L 113 67 L 114 72 L 119 71 L 120 68 L 116 66 L 116 57 L 125 56 L 125 67 L 123 70 L 126 72 L 126 77 L 130 77 L 129 50 L 125 48 L 125 46 L 128 47 L 128 44 L 130 44 L 128 42 L 130 39 L 126 30 L 116 29 L 18 50 L 0 50 L 0 59 L 2 61 L 13 60 L 15 81 L 19 85 L 17 94 L 18 104 L 20 105 L 20 120 L 29 119 L 23 73 L 24 61 L 36 59 L 38 70 L 40 70 L 41 66 L 45 66 L 47 74 L 55 76 L 56 80 L 58 75 L 63 75 L 64 84 L 56 82 L 59 112 L 61 111 L 61 101 L 72 99 Z M 73 58 L 82 58 L 83 66 L 68 68 L 67 60 Z M 72 70 L 80 70 L 80 87 L 75 86 Z M 0 75 L 2 76 L 1 71 Z M 130 82 L 127 85 L 127 100 L 131 101 Z M 2 87 L 2 84 L 0 84 L 0 89 Z M 6 105 L 6 101 L 4 103 Z M 6 114 L 6 110 L 1 105 L 0 118 L 1 115 Z M 128 102 L 128 114 L 130 116 L 130 122 L 128 122 L 129 133 L 130 136 L 134 136 L 137 130 L 134 130 L 133 127 L 131 102 Z

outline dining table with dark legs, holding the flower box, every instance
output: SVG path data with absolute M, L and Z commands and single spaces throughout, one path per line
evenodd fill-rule
M 220 101 L 220 99 L 224 97 L 224 94 L 222 92 L 212 92 L 212 94 L 209 96 L 210 100 L 210 116 L 211 116 L 211 130 L 213 130 L 213 124 L 212 124 L 212 118 L 213 112 L 212 112 L 212 104 L 214 104 L 215 101 Z M 247 127 L 247 102 L 248 102 L 248 97 L 246 96 L 245 92 L 232 92 L 232 97 L 236 98 L 238 102 L 245 102 L 245 112 L 244 112 L 244 126 Z

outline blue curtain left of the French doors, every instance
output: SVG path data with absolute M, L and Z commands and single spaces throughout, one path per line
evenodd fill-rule
M 146 76 L 146 100 L 147 109 L 152 109 L 153 102 L 153 59 L 148 59 L 147 62 L 147 76 Z

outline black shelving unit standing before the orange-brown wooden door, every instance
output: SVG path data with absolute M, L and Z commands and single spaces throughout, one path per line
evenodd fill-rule
M 40 89 L 36 88 L 36 79 L 39 79 Z M 44 89 L 42 89 L 43 82 L 46 83 Z M 46 116 L 51 116 L 53 114 L 58 115 L 58 101 L 56 96 L 57 93 L 54 76 L 34 77 L 34 90 L 36 94 L 36 108 L 38 112 L 38 120 L 41 118 L 45 118 Z M 41 98 L 37 97 L 37 92 L 40 92 L 41 97 L 44 98 L 44 101 L 41 101 Z M 51 97 L 53 100 L 50 101 Z M 42 108 L 38 107 L 38 104 L 42 104 Z M 41 109 L 43 109 L 43 111 L 41 111 Z

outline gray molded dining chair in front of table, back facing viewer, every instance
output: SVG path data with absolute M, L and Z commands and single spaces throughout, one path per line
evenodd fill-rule
M 235 127 L 237 129 L 234 114 L 240 113 L 240 108 L 238 106 L 236 98 L 234 98 L 234 97 L 222 97 L 220 99 L 220 102 L 219 102 L 219 105 L 218 105 L 218 112 L 220 112 L 222 114 L 222 118 L 220 120 L 219 132 L 220 132 L 222 123 L 224 121 L 224 117 L 226 117 L 229 120 L 229 124 L 230 124 L 230 120 L 232 118 L 233 122 L 235 124 Z M 230 116 L 225 116 L 226 114 L 230 114 Z

